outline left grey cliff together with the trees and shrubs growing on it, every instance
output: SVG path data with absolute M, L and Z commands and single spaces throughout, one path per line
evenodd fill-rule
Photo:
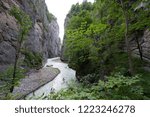
M 22 86 L 24 75 L 29 77 L 47 58 L 60 55 L 56 20 L 43 0 L 0 1 L 0 99 L 10 99 L 9 93 Z

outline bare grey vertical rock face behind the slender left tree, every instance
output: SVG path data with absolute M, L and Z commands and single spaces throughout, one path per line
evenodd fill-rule
M 32 20 L 24 48 L 41 53 L 43 60 L 60 55 L 59 27 L 56 18 L 47 10 L 45 0 L 0 0 L 0 70 L 15 59 L 18 24 L 9 15 L 12 6 L 26 12 Z

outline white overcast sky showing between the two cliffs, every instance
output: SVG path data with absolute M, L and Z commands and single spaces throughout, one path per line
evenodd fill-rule
M 68 14 L 71 6 L 76 3 L 82 3 L 83 0 L 45 0 L 48 10 L 56 18 L 59 25 L 59 36 L 63 40 L 64 35 L 64 20 Z M 88 0 L 89 2 L 94 2 L 94 0 Z

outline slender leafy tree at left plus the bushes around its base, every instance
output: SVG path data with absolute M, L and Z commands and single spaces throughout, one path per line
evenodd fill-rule
M 0 77 L 1 80 L 3 79 L 4 81 L 3 84 L 5 84 L 1 88 L 6 93 L 6 96 L 9 93 L 12 93 L 14 87 L 18 85 L 20 79 L 24 78 L 23 70 L 19 68 L 19 59 L 20 59 L 20 53 L 21 53 L 23 41 L 26 39 L 29 29 L 32 26 L 30 17 L 25 12 L 23 12 L 20 8 L 14 6 L 10 10 L 10 15 L 12 15 L 16 19 L 17 23 L 19 24 L 19 35 L 17 39 L 15 63 L 14 65 L 12 65 L 12 67 L 9 67 L 8 70 L 4 72 Z

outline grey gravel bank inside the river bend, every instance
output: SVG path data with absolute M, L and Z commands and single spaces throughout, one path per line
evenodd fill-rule
M 13 94 L 16 99 L 23 99 L 27 94 L 52 81 L 59 73 L 59 69 L 53 67 L 36 70 L 21 80 L 20 85 L 14 88 Z

